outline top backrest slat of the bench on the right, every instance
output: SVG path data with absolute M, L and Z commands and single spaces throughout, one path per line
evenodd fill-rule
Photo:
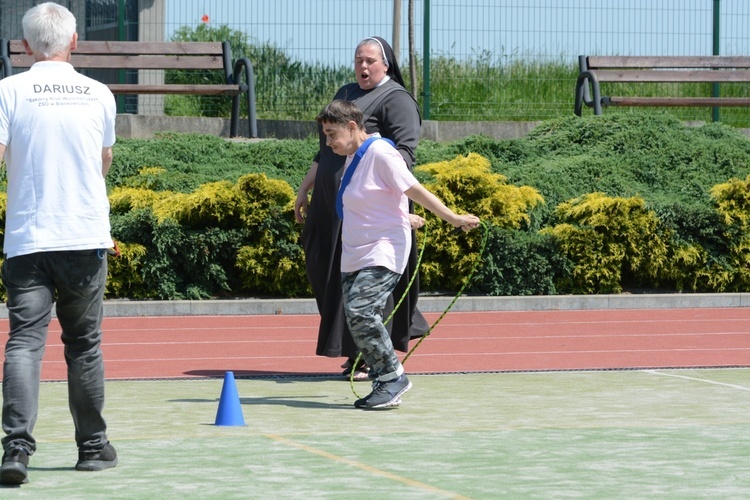
M 750 68 L 750 57 L 744 56 L 589 56 L 589 69 L 662 68 L 722 69 Z

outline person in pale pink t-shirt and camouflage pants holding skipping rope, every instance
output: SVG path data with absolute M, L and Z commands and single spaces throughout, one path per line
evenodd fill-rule
M 344 312 L 352 338 L 375 379 L 372 392 L 354 406 L 398 406 L 412 384 L 383 324 L 383 309 L 411 249 L 408 200 L 464 231 L 476 228 L 479 218 L 455 214 L 417 181 L 392 143 L 377 134 L 368 137 L 356 104 L 335 100 L 323 108 L 317 121 L 333 152 L 347 156 L 336 202 L 342 218 Z

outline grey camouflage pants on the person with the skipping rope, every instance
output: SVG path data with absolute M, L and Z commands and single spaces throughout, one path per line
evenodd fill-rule
M 403 372 L 383 324 L 383 309 L 400 278 L 400 274 L 385 267 L 341 273 L 346 322 L 362 359 L 370 367 L 370 376 L 390 378 Z

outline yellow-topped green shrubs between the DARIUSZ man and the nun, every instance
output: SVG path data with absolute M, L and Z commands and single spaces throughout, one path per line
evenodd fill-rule
M 190 193 L 113 190 L 113 235 L 125 255 L 115 261 L 110 293 L 171 299 L 307 291 L 293 200 L 286 182 L 265 174 Z

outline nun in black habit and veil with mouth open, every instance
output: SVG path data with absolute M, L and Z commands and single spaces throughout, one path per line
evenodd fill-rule
M 414 97 L 404 88 L 404 80 L 391 46 L 380 37 L 362 40 L 355 51 L 354 70 L 357 81 L 341 87 L 334 99 L 352 101 L 362 110 L 365 129 L 390 139 L 411 169 L 419 143 L 421 117 Z M 304 222 L 302 245 L 305 250 L 307 277 L 320 313 L 316 354 L 349 358 L 342 368 L 344 375 L 352 369 L 358 351 L 344 316 L 341 295 L 341 221 L 336 215 L 336 193 L 346 158 L 335 154 L 320 135 L 320 151 L 315 156 L 300 185 L 295 202 L 298 222 Z M 308 192 L 312 196 L 308 204 Z M 385 310 L 388 317 L 394 304 L 404 294 L 412 275 L 417 272 L 416 236 L 412 232 L 409 263 Z M 408 351 L 409 340 L 421 337 L 429 329 L 417 309 L 419 279 L 414 280 L 408 295 L 393 319 L 386 325 L 393 347 Z M 385 318 L 384 318 L 385 319 Z M 363 375 L 366 367 L 354 367 Z

